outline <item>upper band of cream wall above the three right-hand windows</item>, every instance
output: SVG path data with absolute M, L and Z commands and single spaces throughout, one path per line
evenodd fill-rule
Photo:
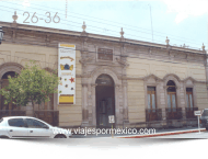
M 150 73 L 163 79 L 167 73 L 174 73 L 180 77 L 181 80 L 192 77 L 195 80 L 206 81 L 205 66 L 193 63 L 181 63 L 174 64 L 173 61 L 166 60 L 157 61 L 139 58 L 128 58 L 129 67 L 127 68 L 127 76 L 134 78 L 146 77 Z

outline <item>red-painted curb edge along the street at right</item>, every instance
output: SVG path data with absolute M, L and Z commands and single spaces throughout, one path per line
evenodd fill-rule
M 157 136 L 166 136 L 166 135 L 177 135 L 177 134 L 196 133 L 196 132 L 198 132 L 198 129 L 181 130 L 181 132 L 171 132 L 171 133 L 161 133 L 161 134 L 152 134 L 152 135 L 127 136 L 127 137 L 117 137 L 117 138 L 145 138 L 145 137 L 157 137 Z M 206 132 L 206 128 L 200 129 L 200 132 Z

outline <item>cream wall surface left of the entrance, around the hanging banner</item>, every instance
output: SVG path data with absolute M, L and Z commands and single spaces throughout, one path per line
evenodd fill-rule
M 57 45 L 58 47 L 58 45 Z M 76 73 L 81 75 L 82 66 L 79 63 L 81 53 L 76 52 Z M 58 48 L 19 45 L 19 44 L 1 44 L 0 45 L 0 65 L 4 63 L 16 63 L 25 66 L 26 63 L 39 60 L 38 65 L 42 68 L 57 69 L 58 64 Z M 59 110 L 59 126 L 73 126 L 81 125 L 82 111 L 81 111 L 81 78 L 76 78 L 76 105 L 57 106 Z M 56 103 L 54 104 L 56 106 Z M 35 105 L 37 107 L 37 105 Z

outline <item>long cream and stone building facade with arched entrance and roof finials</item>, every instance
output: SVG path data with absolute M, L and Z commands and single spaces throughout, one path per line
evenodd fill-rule
M 123 31 L 120 37 L 96 35 L 84 26 L 83 32 L 14 22 L 0 26 L 1 88 L 7 75 L 21 73 L 30 59 L 47 71 L 57 69 L 59 43 L 76 45 L 76 104 L 58 104 L 54 94 L 34 110 L 46 122 L 57 118 L 60 127 L 111 127 L 108 115 L 115 115 L 115 127 L 181 127 L 196 124 L 194 111 L 208 106 L 205 47 L 132 41 Z M 1 112 L 30 115 L 30 109 L 4 105 L 1 96 Z

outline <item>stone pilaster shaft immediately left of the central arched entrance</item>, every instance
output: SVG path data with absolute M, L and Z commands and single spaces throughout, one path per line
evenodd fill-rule
M 89 125 L 89 111 L 88 111 L 88 84 L 82 83 L 82 124 L 81 126 Z

